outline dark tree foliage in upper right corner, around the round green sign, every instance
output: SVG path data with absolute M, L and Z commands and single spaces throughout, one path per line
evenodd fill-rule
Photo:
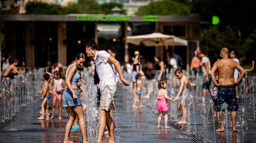
M 248 56 L 252 55 L 253 51 L 250 47 L 252 48 L 252 45 L 256 45 L 256 41 L 252 39 L 255 34 L 254 29 L 256 25 L 256 19 L 254 18 L 254 14 L 256 13 L 255 6 L 256 1 L 251 0 L 193 0 L 192 12 L 203 16 L 207 21 L 211 21 L 212 16 L 218 16 L 220 18 L 218 30 L 225 42 L 220 48 L 227 47 L 230 50 L 235 50 L 236 53 L 240 52 L 240 57 L 248 59 L 247 61 L 251 61 L 255 58 L 255 54 L 253 56 Z M 228 30 L 227 26 L 229 27 Z M 205 37 L 207 35 L 204 32 L 210 31 L 213 25 L 202 25 L 202 27 L 201 48 L 202 50 L 207 51 L 207 45 L 203 41 L 208 39 L 208 37 Z M 240 34 L 238 34 L 238 31 L 240 31 Z M 223 35 L 222 33 L 226 34 Z M 233 36 L 231 36 L 230 33 L 232 33 L 231 35 Z M 250 37 L 248 38 L 249 35 Z M 212 43 L 214 42 L 214 38 L 212 41 L 211 39 L 208 39 L 207 41 L 208 43 Z M 211 47 L 208 48 L 210 51 Z M 214 57 L 216 58 L 216 56 Z

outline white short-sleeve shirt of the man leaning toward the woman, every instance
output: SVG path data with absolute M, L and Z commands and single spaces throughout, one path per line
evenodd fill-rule
M 94 62 L 100 80 L 100 92 L 102 92 L 106 85 L 116 84 L 113 65 L 107 62 L 109 56 L 110 54 L 103 50 L 97 51 L 95 54 Z

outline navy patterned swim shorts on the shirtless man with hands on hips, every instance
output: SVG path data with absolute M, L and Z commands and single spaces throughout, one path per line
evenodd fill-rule
M 221 105 L 226 102 L 228 104 L 228 111 L 238 111 L 238 104 L 236 99 L 236 89 L 234 85 L 222 85 L 218 89 L 217 95 L 217 111 L 221 111 Z

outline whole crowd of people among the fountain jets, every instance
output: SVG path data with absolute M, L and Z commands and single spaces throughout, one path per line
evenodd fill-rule
M 86 139 L 85 120 L 83 110 L 85 106 L 80 98 L 80 94 L 84 92 L 84 89 L 79 84 L 86 83 L 82 78 L 82 70 L 86 57 L 92 58 L 88 71 L 91 76 L 94 77 L 94 84 L 98 86 L 97 99 L 99 107 L 99 119 L 98 119 L 98 143 L 102 142 L 102 136 L 104 133 L 109 134 L 109 142 L 114 142 L 114 120 L 111 118 L 111 111 L 115 108 L 114 95 L 117 90 L 116 84 L 122 82 L 123 85 L 131 85 L 123 78 L 123 72 L 120 62 L 115 59 L 115 53 L 111 50 L 99 51 L 98 44 L 95 42 L 89 42 L 85 44 L 86 56 L 83 53 L 79 53 L 75 56 L 74 60 L 63 67 L 60 63 L 54 63 L 51 66 L 49 72 L 43 75 L 44 85 L 42 91 L 38 91 L 41 94 L 41 111 L 38 120 L 49 120 L 55 118 L 55 106 L 58 100 L 59 106 L 59 119 L 62 119 L 62 106 L 66 108 L 68 121 L 65 126 L 64 143 L 69 143 L 69 132 L 71 129 L 80 129 L 83 142 L 88 142 Z M 209 57 L 203 54 L 200 50 L 196 50 L 195 56 L 192 58 L 190 70 L 195 74 L 203 76 L 202 95 L 206 97 L 207 90 L 214 101 L 214 117 L 221 115 L 221 105 L 226 102 L 231 112 L 233 131 L 237 131 L 235 127 L 236 111 L 238 111 L 238 85 L 245 75 L 245 72 L 251 72 L 254 70 L 254 61 L 252 61 L 252 67 L 250 69 L 243 69 L 237 59 L 234 51 L 229 52 L 227 48 L 222 48 L 220 51 L 221 59 L 211 65 Z M 230 56 L 230 57 L 229 57 Z M 168 100 L 176 103 L 178 102 L 178 108 L 181 113 L 181 120 L 178 124 L 187 124 L 186 119 L 186 97 L 188 95 L 189 77 L 183 74 L 181 69 L 181 57 L 177 54 L 170 56 L 167 54 L 167 64 L 165 60 L 162 60 L 160 56 L 154 56 L 155 60 L 155 74 L 153 81 L 158 82 L 158 94 L 157 109 L 159 111 L 157 128 L 162 128 L 160 125 L 162 117 L 164 115 L 165 128 L 170 128 L 168 123 Z M 141 79 L 152 72 L 153 64 L 146 61 L 146 70 L 142 71 L 143 57 L 139 51 L 134 52 L 134 57 L 131 58 L 131 63 L 125 63 L 125 70 L 131 75 L 131 82 L 133 85 L 133 108 L 138 108 L 137 102 L 139 101 L 140 107 L 145 107 L 142 104 L 142 99 L 149 98 L 149 93 L 146 96 L 142 96 L 142 92 L 146 93 L 143 89 Z M 14 60 L 12 64 L 8 65 L 3 72 L 2 78 L 10 77 L 10 74 L 14 71 L 17 74 L 20 72 L 17 70 L 18 60 Z M 168 70 L 166 70 L 168 69 Z M 166 90 L 167 80 L 166 72 L 173 69 L 173 87 L 179 86 L 179 91 L 174 99 L 172 99 Z M 166 72 L 165 72 L 166 71 Z M 10 84 L 11 89 L 11 84 Z M 246 94 L 248 94 L 249 82 L 247 79 Z M 3 92 L 2 92 L 3 93 Z M 2 96 L 0 94 L 0 98 Z M 48 113 L 50 94 L 53 98 L 52 116 Z M 101 102 L 99 102 L 101 101 Z M 200 105 L 200 104 L 198 104 Z M 77 121 L 79 125 L 77 125 Z M 78 127 L 77 127 L 78 126 Z M 221 122 L 220 128 L 216 131 L 224 131 L 224 125 Z

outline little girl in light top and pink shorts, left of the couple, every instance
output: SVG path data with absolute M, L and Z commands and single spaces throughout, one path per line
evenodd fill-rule
M 58 106 L 59 106 L 59 119 L 62 119 L 61 113 L 62 113 L 62 107 L 61 107 L 61 101 L 62 101 L 62 91 L 65 89 L 65 82 L 62 79 L 62 73 L 61 71 L 55 71 L 54 72 L 54 80 L 52 82 L 51 89 L 53 91 L 53 108 L 52 108 L 52 117 L 50 119 L 54 118 L 54 112 L 55 112 L 55 105 L 58 100 Z

